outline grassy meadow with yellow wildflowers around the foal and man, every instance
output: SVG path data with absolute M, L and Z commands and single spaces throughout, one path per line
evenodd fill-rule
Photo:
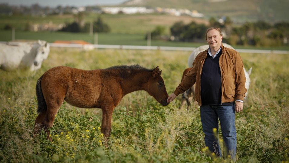
M 168 94 L 180 82 L 190 52 L 51 48 L 36 72 L 0 71 L 0 162 L 232 162 L 206 156 L 197 106 L 179 110 L 179 99 L 164 107 L 145 91 L 123 97 L 113 112 L 111 136 L 100 133 L 101 110 L 64 102 L 51 128 L 33 136 L 37 79 L 54 66 L 99 69 L 140 64 L 163 69 Z M 288 162 L 288 55 L 241 53 L 253 67 L 248 100 L 236 113 L 238 162 Z M 218 137 L 221 139 L 221 133 Z M 221 145 L 222 146 L 222 145 Z

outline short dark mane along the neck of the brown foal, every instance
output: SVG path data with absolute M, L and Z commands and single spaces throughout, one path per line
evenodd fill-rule
M 121 78 L 127 78 L 131 75 L 134 75 L 136 73 L 140 72 L 153 72 L 154 69 L 146 69 L 140 65 L 118 65 L 118 66 L 112 66 L 107 68 L 107 70 L 116 70 L 118 75 L 120 75 Z

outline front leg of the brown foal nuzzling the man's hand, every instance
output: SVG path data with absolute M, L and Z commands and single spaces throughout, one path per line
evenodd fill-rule
M 114 106 L 112 105 L 106 105 L 102 109 L 101 133 L 103 133 L 105 137 L 110 136 L 111 118 L 112 118 L 113 109 L 114 109 Z

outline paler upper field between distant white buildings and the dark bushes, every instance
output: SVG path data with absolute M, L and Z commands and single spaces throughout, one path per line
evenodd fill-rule
M 86 14 L 84 22 L 92 22 L 98 17 L 103 18 L 104 23 L 107 23 L 112 33 L 120 34 L 146 34 L 152 31 L 157 25 L 166 27 L 166 33 L 169 34 L 169 28 L 177 21 L 184 21 L 190 23 L 195 21 L 197 23 L 208 24 L 209 22 L 202 18 L 192 18 L 190 16 L 172 16 L 165 14 Z M 30 15 L 0 15 L 0 29 L 6 24 L 15 27 L 16 30 L 24 30 L 25 25 L 29 22 L 32 24 L 64 24 L 74 21 L 73 14 L 67 15 L 48 15 L 46 17 L 30 16 Z

